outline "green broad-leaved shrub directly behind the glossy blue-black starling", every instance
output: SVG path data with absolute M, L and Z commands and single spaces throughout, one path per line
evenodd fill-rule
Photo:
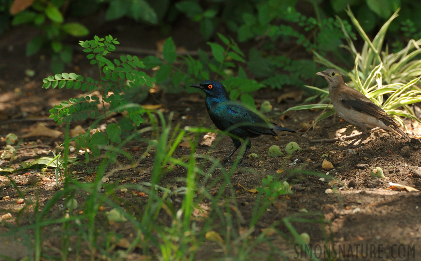
M 195 60 L 190 55 L 177 55 L 176 46 L 172 38 L 168 38 L 163 46 L 163 58 L 160 60 L 156 56 L 147 56 L 142 61 L 147 69 L 159 66 L 155 74 L 156 83 L 167 92 L 184 91 L 184 87 L 203 79 L 210 79 L 211 75 L 215 75 L 214 79 L 222 78 L 220 81 L 226 87 L 231 99 L 240 100 L 254 107 L 254 99 L 251 92 L 265 87 L 255 80 L 248 79 L 241 66 L 238 66 L 237 76 L 231 68 L 237 67 L 234 62 L 245 63 L 245 55 L 242 53 L 237 43 L 232 38 L 227 38 L 222 34 L 218 34 L 220 40 L 225 46 L 215 42 L 208 42 L 213 58 L 203 51 L 198 51 L 199 59 Z M 177 57 L 181 60 L 176 63 Z M 187 92 L 195 92 L 193 88 L 187 88 Z

